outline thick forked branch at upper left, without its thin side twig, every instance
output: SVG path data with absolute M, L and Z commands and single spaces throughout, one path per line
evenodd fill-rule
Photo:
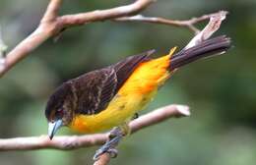
M 9 52 L 0 67 L 0 77 L 8 72 L 15 64 L 27 57 L 37 46 L 49 37 L 58 35 L 59 32 L 70 26 L 80 26 L 89 22 L 98 22 L 106 19 L 131 16 L 147 8 L 154 0 L 137 0 L 131 5 L 98 10 L 83 14 L 74 14 L 58 17 L 62 0 L 50 0 L 39 26 Z

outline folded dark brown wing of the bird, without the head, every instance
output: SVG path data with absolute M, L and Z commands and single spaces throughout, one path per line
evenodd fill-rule
M 154 52 L 154 50 L 150 50 L 128 57 L 117 64 L 71 80 L 70 83 L 77 99 L 75 112 L 91 115 L 104 110 L 136 67 L 142 62 L 148 61 L 149 55 Z

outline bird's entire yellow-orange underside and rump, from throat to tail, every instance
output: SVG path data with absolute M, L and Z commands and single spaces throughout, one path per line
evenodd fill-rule
M 107 108 L 96 115 L 77 115 L 70 128 L 81 133 L 107 131 L 131 120 L 155 96 L 170 73 L 170 55 L 142 63 L 119 89 Z

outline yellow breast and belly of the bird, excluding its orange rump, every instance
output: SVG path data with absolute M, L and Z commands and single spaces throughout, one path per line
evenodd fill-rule
M 143 109 L 153 98 L 156 91 L 147 95 L 116 95 L 106 109 L 96 115 L 78 115 L 71 128 L 80 133 L 93 134 L 110 130 L 113 127 L 129 122 L 136 112 Z

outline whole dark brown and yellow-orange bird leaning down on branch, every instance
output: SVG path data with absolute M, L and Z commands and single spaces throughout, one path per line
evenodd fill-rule
M 177 53 L 174 47 L 159 58 L 152 58 L 155 50 L 149 50 L 62 83 L 45 108 L 48 137 L 52 139 L 64 126 L 84 134 L 117 128 L 110 132 L 112 140 L 106 141 L 95 157 L 110 151 L 114 142 L 129 134 L 128 123 L 174 72 L 199 59 L 224 54 L 230 42 L 229 37 L 220 35 Z

